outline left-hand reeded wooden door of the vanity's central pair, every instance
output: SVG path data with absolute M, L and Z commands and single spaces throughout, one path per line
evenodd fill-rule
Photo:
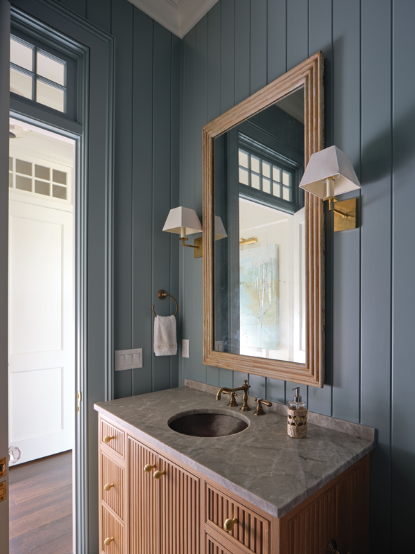
M 147 464 L 157 466 L 157 463 L 156 452 L 128 438 L 129 554 L 160 552 L 159 487 L 153 479 L 159 468 L 144 471 Z

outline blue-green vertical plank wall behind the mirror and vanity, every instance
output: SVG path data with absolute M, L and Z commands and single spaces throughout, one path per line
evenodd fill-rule
M 415 395 L 414 20 L 412 0 L 219 0 L 182 46 L 180 193 L 199 216 L 203 123 L 324 52 L 326 146 L 345 150 L 361 179 L 361 225 L 333 235 L 326 213 L 326 384 L 307 397 L 313 411 L 377 429 L 371 552 L 382 553 L 405 548 L 415 513 L 415 437 L 405 428 Z M 203 368 L 201 260 L 186 254 L 183 338 L 193 356 L 179 359 L 180 382 L 240 384 L 241 373 Z M 250 383 L 290 400 L 291 384 Z

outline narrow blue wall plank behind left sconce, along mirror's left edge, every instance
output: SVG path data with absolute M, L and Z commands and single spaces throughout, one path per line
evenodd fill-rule
M 194 95 L 194 209 L 202 214 L 202 129 L 208 123 L 208 15 L 196 26 L 196 82 Z M 201 236 L 201 235 L 194 235 Z M 205 382 L 203 364 L 203 258 L 192 258 L 194 269 L 194 379 Z

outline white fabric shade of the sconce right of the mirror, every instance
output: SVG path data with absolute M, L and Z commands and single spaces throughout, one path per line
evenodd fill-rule
M 312 154 L 299 187 L 320 198 L 361 188 L 349 157 L 337 146 Z

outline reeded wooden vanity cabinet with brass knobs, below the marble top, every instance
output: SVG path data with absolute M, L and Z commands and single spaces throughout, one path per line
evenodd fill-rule
M 369 455 L 277 519 L 100 415 L 101 554 L 367 554 L 368 515 Z

